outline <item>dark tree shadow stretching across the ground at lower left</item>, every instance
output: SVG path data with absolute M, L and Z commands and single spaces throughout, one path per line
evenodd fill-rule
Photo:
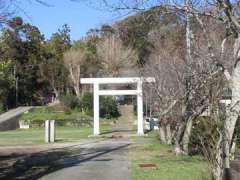
M 130 144 L 117 147 L 80 148 L 68 147 L 42 151 L 33 154 L 11 154 L 0 156 L 0 179 L 37 179 L 63 168 L 77 166 L 95 158 L 126 148 Z M 111 159 L 98 159 L 110 161 Z

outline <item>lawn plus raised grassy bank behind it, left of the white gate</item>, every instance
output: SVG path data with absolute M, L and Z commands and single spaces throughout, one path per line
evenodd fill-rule
M 93 121 L 92 117 L 77 110 L 66 113 L 61 106 L 41 107 L 21 116 L 21 120 L 32 123 L 33 126 L 30 129 L 0 131 L 0 146 L 44 144 L 45 129 L 42 126 L 46 119 L 57 121 L 56 143 L 86 140 L 90 139 L 88 136 L 93 134 L 93 127 L 90 127 Z M 116 119 L 101 119 L 100 131 L 102 133 L 111 131 L 115 121 Z

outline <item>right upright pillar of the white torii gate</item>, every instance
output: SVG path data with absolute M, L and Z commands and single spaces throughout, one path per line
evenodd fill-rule
M 144 135 L 143 131 L 143 93 L 142 80 L 137 83 L 137 115 L 138 115 L 138 135 Z

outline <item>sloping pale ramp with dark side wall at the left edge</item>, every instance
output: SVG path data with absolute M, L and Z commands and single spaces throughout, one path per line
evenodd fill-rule
M 0 130 L 16 129 L 18 125 L 18 117 L 33 108 L 33 106 L 23 106 L 9 110 L 0 115 Z

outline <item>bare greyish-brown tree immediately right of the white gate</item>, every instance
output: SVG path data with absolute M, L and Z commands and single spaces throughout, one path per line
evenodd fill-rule
M 165 29 L 165 28 L 163 28 Z M 184 94 L 183 70 L 184 58 L 182 56 L 182 42 L 176 42 L 177 36 L 181 36 L 181 27 L 175 28 L 171 36 L 169 32 L 153 30 L 149 34 L 154 49 L 145 64 L 146 76 L 153 76 L 156 83 L 152 84 L 154 92 L 155 114 L 159 119 L 159 134 L 163 143 L 172 142 L 176 125 L 180 118 L 173 117 L 174 112 L 179 111 L 176 106 Z M 165 38 L 162 38 L 165 37 Z M 149 88 L 150 89 L 150 88 Z M 181 112 L 181 110 L 180 110 Z M 171 129 L 170 129 L 170 126 Z

